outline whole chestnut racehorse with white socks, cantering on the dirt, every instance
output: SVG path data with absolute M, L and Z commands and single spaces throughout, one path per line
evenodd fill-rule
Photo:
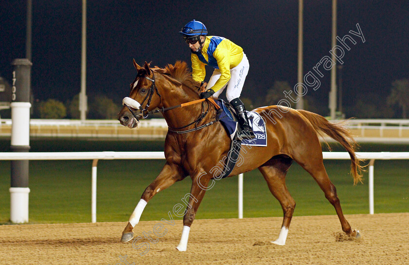
M 192 79 L 185 62 L 178 61 L 174 66 L 168 65 L 164 69 L 150 68 L 146 62 L 144 67 L 140 67 L 135 61 L 133 64 L 137 76 L 130 84 L 130 96 L 124 98 L 124 107 L 118 114 L 118 120 L 122 125 L 134 128 L 139 120 L 146 118 L 149 113 L 161 111 L 169 131 L 165 140 L 166 164 L 142 194 L 122 233 L 121 241 L 128 242 L 133 238 L 132 230 L 139 222 L 146 204 L 155 194 L 190 176 L 192 186 L 190 194 L 186 194 L 189 202 L 183 218 L 182 237 L 177 247 L 180 251 L 186 251 L 190 226 L 199 205 L 206 190 L 214 182 L 212 178 L 218 177 L 210 173 L 214 173 L 214 167 L 226 158 L 231 140 L 223 125 L 215 122 L 217 110 L 209 101 L 186 104 L 200 99 L 200 87 Z M 154 111 L 156 108 L 159 110 Z M 245 148 L 243 145 L 240 152 L 242 163 L 236 166 L 228 177 L 255 168 L 260 170 L 284 213 L 279 237 L 272 243 L 285 244 L 296 206 L 285 185 L 285 176 L 293 160 L 316 180 L 325 197 L 334 206 L 342 230 L 351 237 L 359 237 L 359 231 L 351 229 L 342 213 L 335 186 L 324 168 L 318 140 L 318 135 L 326 134 L 343 145 L 350 154 L 351 173 L 356 184 L 361 181 L 362 166 L 359 164 L 360 159 L 355 156 L 355 141 L 349 131 L 341 124 L 332 124 L 324 117 L 305 110 L 264 106 L 254 111 L 258 112 L 266 123 L 268 145 L 251 148 Z

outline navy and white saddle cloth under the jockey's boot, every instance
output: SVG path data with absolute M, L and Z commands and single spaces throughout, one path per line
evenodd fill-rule
M 217 104 L 220 106 L 218 119 L 230 135 L 230 139 L 233 140 L 237 130 L 240 129 L 236 113 L 233 108 L 228 106 L 222 99 L 218 99 Z M 242 140 L 242 145 L 267 146 L 265 123 L 260 114 L 254 111 L 247 111 L 247 117 L 256 138 L 252 140 Z

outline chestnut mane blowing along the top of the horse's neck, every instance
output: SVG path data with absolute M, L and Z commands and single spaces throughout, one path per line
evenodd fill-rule
M 200 84 L 193 80 L 192 72 L 187 67 L 186 62 L 176 61 L 175 65 L 168 64 L 165 68 L 155 67 L 154 71 L 168 74 L 182 85 L 185 85 L 196 92 L 198 92 L 200 89 Z

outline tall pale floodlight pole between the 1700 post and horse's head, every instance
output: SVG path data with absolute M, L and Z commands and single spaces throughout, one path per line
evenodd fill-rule
M 79 94 L 79 111 L 81 121 L 87 117 L 87 0 L 82 0 L 82 41 L 81 41 L 81 92 Z

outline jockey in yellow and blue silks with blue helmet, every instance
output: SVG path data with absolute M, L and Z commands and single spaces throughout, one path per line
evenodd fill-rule
M 242 47 L 223 37 L 206 36 L 205 25 L 196 20 L 187 23 L 179 33 L 183 35 L 192 52 L 190 58 L 193 79 L 201 82 L 202 91 L 205 90 L 206 85 L 209 87 L 200 93 L 201 98 L 210 96 L 218 98 L 227 86 L 227 100 L 236 110 L 242 127 L 242 132 L 238 135 L 239 139 L 256 138 L 248 123 L 244 104 L 239 98 L 249 69 Z M 204 82 L 205 65 L 215 69 L 208 83 Z

